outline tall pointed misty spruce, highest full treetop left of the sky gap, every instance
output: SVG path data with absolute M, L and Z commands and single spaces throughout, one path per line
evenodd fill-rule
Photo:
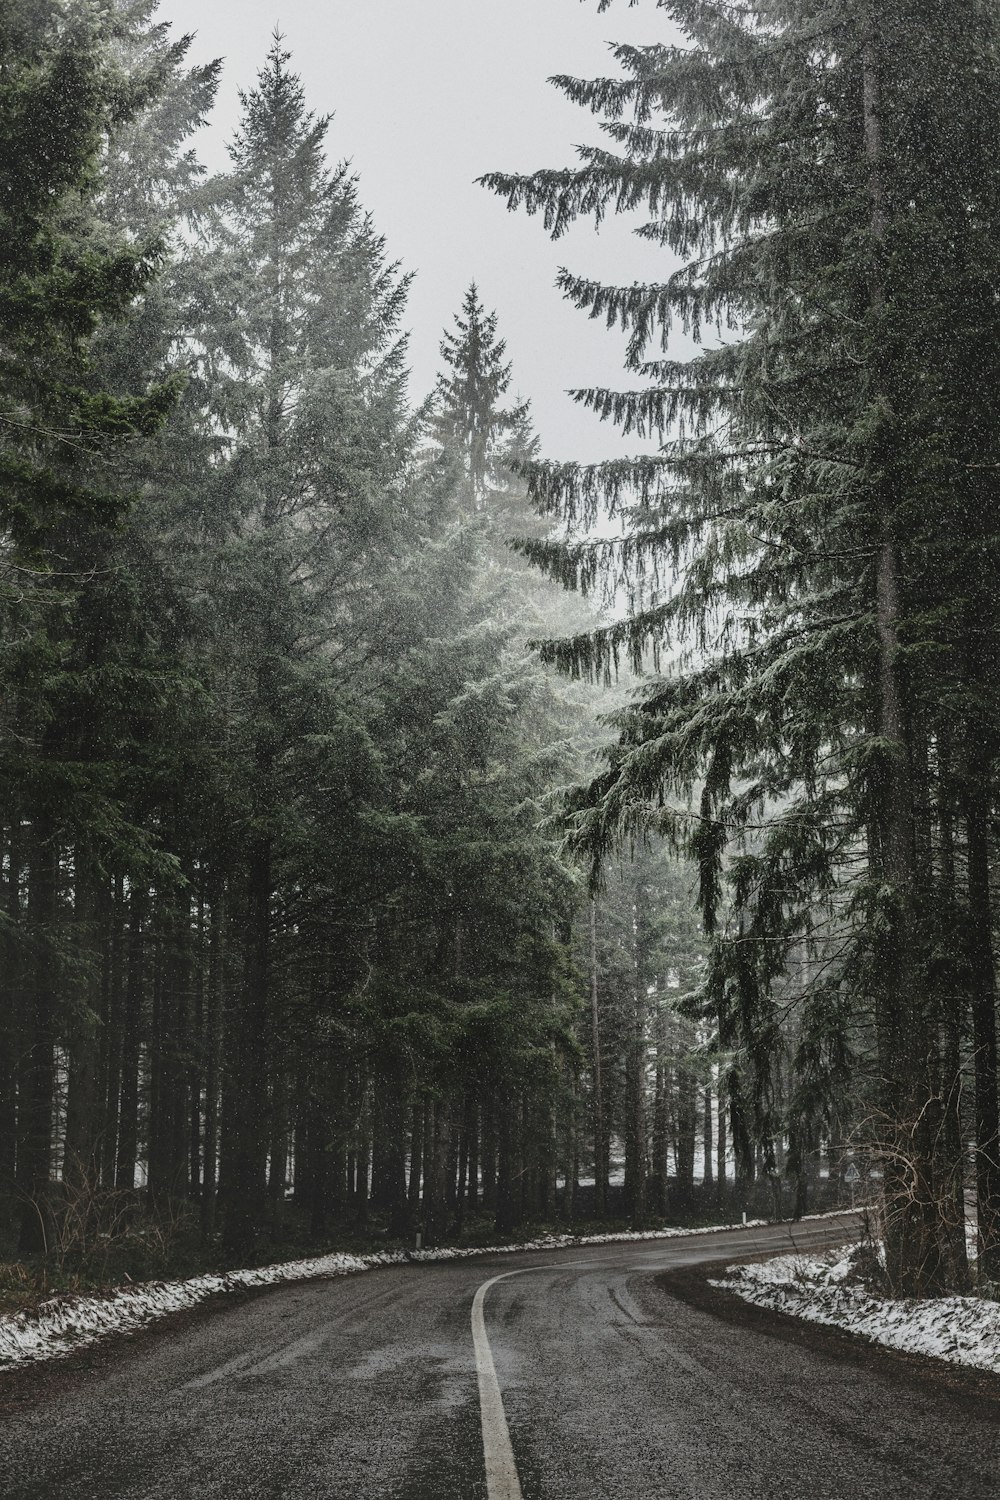
M 213 484 L 228 615 L 219 670 L 244 766 L 232 850 L 243 976 L 223 1136 L 234 1246 L 264 1210 L 268 1046 L 280 1030 L 276 900 L 297 752 L 328 742 L 337 717 L 346 730 L 348 684 L 370 654 L 379 582 L 405 528 L 405 280 L 346 168 L 325 164 L 327 124 L 306 110 L 276 38 L 243 96 L 210 231 L 202 338 L 228 442 Z

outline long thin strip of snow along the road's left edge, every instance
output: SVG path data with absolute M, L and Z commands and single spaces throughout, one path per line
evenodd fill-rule
M 843 1210 L 840 1210 L 843 1212 Z M 837 1218 L 816 1214 L 813 1218 Z M 718 1224 L 711 1228 L 663 1228 L 618 1234 L 546 1234 L 522 1245 L 442 1246 L 439 1250 L 393 1250 L 370 1256 L 318 1256 L 312 1260 L 285 1260 L 274 1266 L 225 1270 L 187 1281 L 147 1281 L 120 1287 L 103 1296 L 66 1296 L 43 1302 L 36 1312 L 0 1317 L 0 1371 L 28 1360 L 55 1359 L 96 1342 L 108 1334 L 133 1334 L 168 1312 L 181 1312 L 207 1298 L 244 1287 L 279 1286 L 319 1276 L 343 1276 L 378 1266 L 468 1260 L 472 1256 L 505 1256 L 526 1250 L 567 1250 L 582 1245 L 618 1245 L 636 1240 L 681 1239 L 688 1234 L 718 1234 L 733 1228 L 760 1228 L 766 1220 L 748 1224 Z

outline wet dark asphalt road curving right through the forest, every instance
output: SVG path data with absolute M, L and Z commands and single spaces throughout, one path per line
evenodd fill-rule
M 0 1494 L 489 1500 L 472 1299 L 541 1266 L 484 1304 L 525 1500 L 996 1500 L 991 1388 L 720 1317 L 663 1276 L 772 1248 L 789 1230 L 391 1268 L 184 1314 L 0 1376 Z

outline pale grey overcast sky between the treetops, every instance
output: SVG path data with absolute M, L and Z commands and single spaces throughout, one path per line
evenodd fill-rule
M 622 224 L 600 236 L 579 225 L 553 244 L 538 219 L 508 213 L 475 178 L 567 166 L 577 141 L 597 140 L 594 118 L 546 80 L 615 70 L 609 42 L 666 39 L 654 0 L 619 0 L 604 15 L 597 0 L 160 0 L 159 15 L 196 33 L 192 58 L 225 58 L 202 138 L 210 166 L 225 165 L 237 90 L 252 87 L 274 26 L 285 33 L 310 108 L 334 114 L 331 154 L 352 160 L 393 258 L 417 273 L 415 398 L 432 387 L 441 332 L 475 279 L 499 314 L 544 452 L 589 462 L 639 446 L 565 394 L 622 384 L 622 339 L 564 303 L 553 282 L 561 264 L 604 280 L 657 279 L 663 255 Z

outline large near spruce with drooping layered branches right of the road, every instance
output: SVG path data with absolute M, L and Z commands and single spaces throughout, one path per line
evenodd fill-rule
M 975 664 L 1000 555 L 987 292 L 1000 206 L 985 129 L 997 16 L 927 0 L 661 9 L 685 45 L 622 46 L 622 76 L 558 80 L 603 117 L 607 146 L 583 148 L 576 170 L 486 178 L 555 236 L 645 207 L 639 232 L 682 260 L 649 286 L 561 274 L 565 296 L 628 330 L 630 368 L 648 380 L 580 399 L 663 447 L 535 466 L 543 510 L 622 522 L 621 540 L 537 542 L 535 561 L 576 585 L 610 579 L 631 602 L 628 618 L 547 654 L 589 674 L 621 652 L 637 668 L 672 657 L 573 802 L 576 840 L 600 858 L 622 832 L 670 831 L 700 861 L 709 932 L 736 844 L 712 993 L 739 1042 L 742 1104 L 766 1134 L 775 987 L 805 952 L 799 1104 L 829 1098 L 853 1047 L 885 1173 L 889 1276 L 939 1290 L 960 1274 L 961 1160 L 942 1150 L 960 1089 L 943 1044 L 969 998 L 954 984 L 961 934 L 945 936 L 934 912 L 963 814 L 984 1264 L 997 1246 L 981 837 L 996 698 Z M 676 362 L 675 324 L 726 336 Z M 955 716 L 972 747 L 963 764 Z M 958 963 L 942 984 L 943 945 Z

